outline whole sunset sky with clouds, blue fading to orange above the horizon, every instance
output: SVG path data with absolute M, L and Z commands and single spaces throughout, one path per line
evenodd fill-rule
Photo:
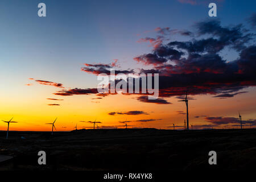
M 38 16 L 46 3 L 47 16 Z M 256 126 L 256 1 L 0 2 L 0 119 L 10 130 Z M 159 73 L 159 99 L 97 96 L 98 73 Z M 82 121 L 82 122 L 81 122 Z M 0 130 L 6 130 L 0 122 Z M 178 129 L 183 129 L 178 127 Z

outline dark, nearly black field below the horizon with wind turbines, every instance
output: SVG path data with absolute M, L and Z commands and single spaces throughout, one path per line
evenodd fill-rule
M 0 170 L 256 169 L 256 130 L 0 131 Z M 22 139 L 24 137 L 26 139 Z M 38 164 L 46 151 L 47 165 Z M 210 166 L 208 152 L 217 152 Z M 8 156 L 14 158 L 6 160 Z

